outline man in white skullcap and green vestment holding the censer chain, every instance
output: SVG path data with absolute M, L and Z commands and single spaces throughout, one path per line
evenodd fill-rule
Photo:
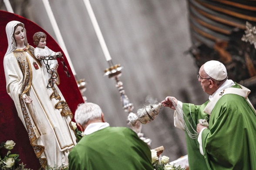
M 214 60 L 201 66 L 197 78 L 209 94 L 204 104 L 174 97 L 162 101 L 175 109 L 175 127 L 186 131 L 189 170 L 256 170 L 256 111 L 248 99 L 250 90 L 227 79 L 225 66 Z

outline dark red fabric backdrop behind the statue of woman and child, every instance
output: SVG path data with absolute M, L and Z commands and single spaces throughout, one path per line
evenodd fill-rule
M 27 20 L 22 16 L 18 16 L 16 14 L 9 13 L 6 11 L 0 11 L 0 142 L 13 140 L 16 143 L 16 145 L 14 149 L 11 150 L 11 152 L 20 154 L 20 163 L 23 162 L 24 164 L 27 164 L 26 168 L 37 170 L 40 168 L 39 160 L 36 158 L 34 150 L 30 145 L 27 131 L 17 115 L 17 111 L 13 103 L 13 100 L 6 92 L 6 81 L 3 70 L 3 57 L 7 51 L 8 43 L 5 27 L 7 23 L 12 20 L 17 20 L 24 23 L 25 29 L 27 30 L 27 41 L 31 46 L 34 46 L 34 33 L 41 31 L 47 34 L 47 46 L 50 49 L 52 49 L 55 52 L 61 51 L 63 53 L 63 51 L 61 50 L 57 42 L 37 24 L 33 23 L 30 20 Z M 67 62 L 65 54 L 64 59 L 71 77 L 67 77 L 61 65 L 61 62 L 58 59 L 58 74 L 61 80 L 60 85 L 58 85 L 58 87 L 61 89 L 61 92 L 64 95 L 67 104 L 69 105 L 72 113 L 74 114 L 77 105 L 79 103 L 83 103 L 84 100 L 77 86 L 74 75 L 71 72 L 71 68 Z M 3 149 L 1 151 L 3 151 Z

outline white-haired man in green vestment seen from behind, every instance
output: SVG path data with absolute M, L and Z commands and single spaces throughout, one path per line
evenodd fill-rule
M 70 170 L 153 170 L 148 145 L 130 128 L 110 127 L 98 105 L 79 105 L 74 118 L 84 137 L 68 155 Z

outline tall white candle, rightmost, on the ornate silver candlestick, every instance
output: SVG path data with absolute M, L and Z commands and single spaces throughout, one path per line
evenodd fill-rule
M 104 56 L 105 56 L 106 60 L 109 61 L 109 60 L 111 60 L 111 56 L 110 56 L 110 54 L 109 54 L 109 52 L 108 52 L 108 48 L 107 48 L 106 43 L 105 43 L 105 41 L 104 41 L 104 38 L 103 38 L 103 36 L 102 36 L 101 29 L 100 29 L 100 27 L 99 27 L 99 25 L 98 25 L 98 22 L 97 22 L 97 20 L 96 20 L 96 17 L 95 17 L 95 15 L 94 15 L 94 12 L 93 12 L 93 10 L 92 10 L 92 8 L 91 8 L 91 3 L 90 3 L 90 1 L 89 1 L 89 0 L 84 0 L 84 5 L 85 5 L 85 7 L 87 8 L 87 11 L 88 11 L 88 13 L 89 13 L 89 16 L 90 16 L 90 19 L 91 19 L 91 23 L 92 23 L 92 25 L 93 25 L 93 27 L 94 27 L 94 30 L 95 30 L 95 32 L 96 32 L 96 35 L 97 35 L 97 37 L 98 37 L 98 39 L 99 39 L 99 42 L 100 42 L 100 44 L 101 44 L 101 49 L 102 49 L 102 51 L 103 51 L 103 53 L 104 53 Z

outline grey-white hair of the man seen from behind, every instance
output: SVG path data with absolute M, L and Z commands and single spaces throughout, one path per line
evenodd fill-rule
M 88 121 L 101 119 L 101 108 L 94 103 L 81 103 L 77 106 L 74 119 L 84 126 Z

